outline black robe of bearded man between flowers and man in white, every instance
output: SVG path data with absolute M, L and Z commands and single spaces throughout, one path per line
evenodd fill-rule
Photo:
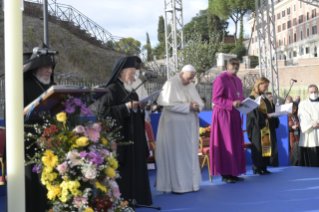
M 119 174 L 121 178 L 117 180 L 122 193 L 122 198 L 125 200 L 132 199 L 132 190 L 135 190 L 135 199 L 138 204 L 151 205 L 152 196 L 150 191 L 150 183 L 147 171 L 147 157 L 149 150 L 145 137 L 145 122 L 144 113 L 140 108 L 136 112 L 129 111 L 123 100 L 129 93 L 125 90 L 123 82 L 116 80 L 111 83 L 107 89 L 109 92 L 104 97 L 103 109 L 101 115 L 105 117 L 112 117 L 116 119 L 117 125 L 122 126 L 120 133 L 124 136 L 123 142 L 134 141 L 134 145 L 119 145 L 117 147 Z M 134 92 L 130 99 L 138 101 L 138 96 Z M 131 125 L 131 121 L 133 121 Z M 131 127 L 133 126 L 134 136 L 131 134 Z M 134 147 L 134 153 L 132 148 Z M 134 155 L 133 155 L 134 154 Z M 134 164 L 133 164 L 134 160 Z M 133 165 L 134 178 L 133 185 Z

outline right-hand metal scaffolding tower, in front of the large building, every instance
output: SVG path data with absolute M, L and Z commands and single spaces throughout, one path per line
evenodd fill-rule
M 279 105 L 279 83 L 276 47 L 274 0 L 255 0 L 257 38 L 259 44 L 259 75 L 270 80 L 276 105 Z

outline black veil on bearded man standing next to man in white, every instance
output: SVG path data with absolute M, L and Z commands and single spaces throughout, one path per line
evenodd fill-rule
M 136 61 L 136 58 L 134 56 L 133 57 L 123 57 L 123 58 L 118 59 L 113 66 L 111 76 L 110 76 L 109 80 L 107 81 L 105 87 L 107 87 L 111 83 L 115 82 L 119 78 L 120 73 L 123 69 L 135 68 L 135 61 Z

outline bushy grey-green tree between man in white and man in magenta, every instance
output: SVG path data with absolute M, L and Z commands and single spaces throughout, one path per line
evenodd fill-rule
M 185 43 L 184 51 L 179 57 L 180 66 L 191 64 L 196 69 L 196 85 L 216 64 L 217 53 L 224 45 L 224 34 L 212 33 L 208 40 L 202 40 L 202 35 L 194 31 Z M 222 37 L 222 40 L 221 40 Z M 179 67 L 179 70 L 181 69 Z

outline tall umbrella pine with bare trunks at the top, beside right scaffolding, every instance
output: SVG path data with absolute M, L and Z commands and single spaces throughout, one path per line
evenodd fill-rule
M 243 19 L 255 10 L 255 0 L 209 0 L 208 10 L 225 20 L 231 19 L 235 24 L 235 45 L 243 42 Z M 240 22 L 240 36 L 237 42 L 237 27 Z

